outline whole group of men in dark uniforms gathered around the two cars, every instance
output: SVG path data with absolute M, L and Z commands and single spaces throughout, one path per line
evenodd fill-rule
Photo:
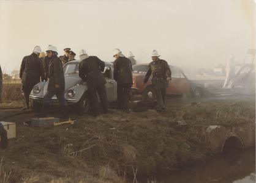
M 62 115 L 59 118 L 69 118 L 67 101 L 64 96 L 65 78 L 63 65 L 75 60 L 75 52 L 70 48 L 64 49 L 64 56 L 58 57 L 55 46 L 49 45 L 46 56 L 41 52 L 40 46 L 36 46 L 30 56 L 25 56 L 21 62 L 20 78 L 22 83 L 21 92 L 24 99 L 24 108 L 29 109 L 29 94 L 38 82 L 48 81 L 47 93 L 45 93 L 42 111 L 35 115 L 38 118 L 47 117 L 50 109 L 51 98 L 56 95 L 62 107 Z M 40 57 L 40 58 L 39 58 Z M 96 56 L 88 56 L 85 49 L 79 52 L 81 62 L 79 63 L 79 76 L 88 85 L 93 116 L 100 114 L 97 94 L 103 113 L 112 113 L 108 106 L 107 91 L 105 88 L 105 77 L 102 74 L 105 62 Z M 113 76 L 117 82 L 118 109 L 129 112 L 129 93 L 132 87 L 132 65 L 136 63 L 130 52 L 129 59 L 125 57 L 119 49 L 113 50 L 114 71 Z M 171 70 L 165 60 L 159 59 L 159 54 L 154 50 L 151 54 L 153 62 L 149 63 L 148 73 L 143 84 L 148 82 L 152 74 L 152 86 L 157 90 L 157 111 L 164 112 L 164 101 L 168 81 L 171 79 Z

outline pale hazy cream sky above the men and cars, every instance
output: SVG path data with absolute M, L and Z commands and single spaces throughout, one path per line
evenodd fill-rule
M 34 46 L 56 46 L 112 62 L 112 51 L 132 51 L 137 63 L 160 58 L 183 70 L 243 62 L 255 49 L 255 1 L 0 1 L 0 64 L 19 70 Z

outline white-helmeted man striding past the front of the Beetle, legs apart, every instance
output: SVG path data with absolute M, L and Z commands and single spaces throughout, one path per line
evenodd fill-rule
M 50 108 L 51 98 L 56 95 L 62 107 L 62 115 L 58 118 L 69 118 L 67 100 L 64 96 L 65 78 L 62 68 L 61 59 L 58 57 L 58 52 L 55 46 L 47 47 L 47 56 L 50 58 L 49 73 L 48 73 L 48 88 L 45 93 L 43 108 L 40 114 L 35 115 L 37 118 L 47 117 L 48 109 Z

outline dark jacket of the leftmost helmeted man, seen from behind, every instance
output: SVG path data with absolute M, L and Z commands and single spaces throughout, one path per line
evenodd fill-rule
M 43 63 L 37 54 L 32 53 L 30 56 L 23 58 L 20 66 L 20 78 L 23 85 L 36 85 L 44 79 Z

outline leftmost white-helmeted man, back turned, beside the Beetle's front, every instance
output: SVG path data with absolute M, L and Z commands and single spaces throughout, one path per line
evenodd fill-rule
M 21 94 L 23 96 L 24 107 L 23 110 L 29 109 L 29 94 L 32 88 L 38 82 L 44 79 L 43 63 L 39 59 L 41 52 L 40 46 L 36 46 L 30 56 L 23 58 L 20 66 L 20 79 L 22 83 Z

